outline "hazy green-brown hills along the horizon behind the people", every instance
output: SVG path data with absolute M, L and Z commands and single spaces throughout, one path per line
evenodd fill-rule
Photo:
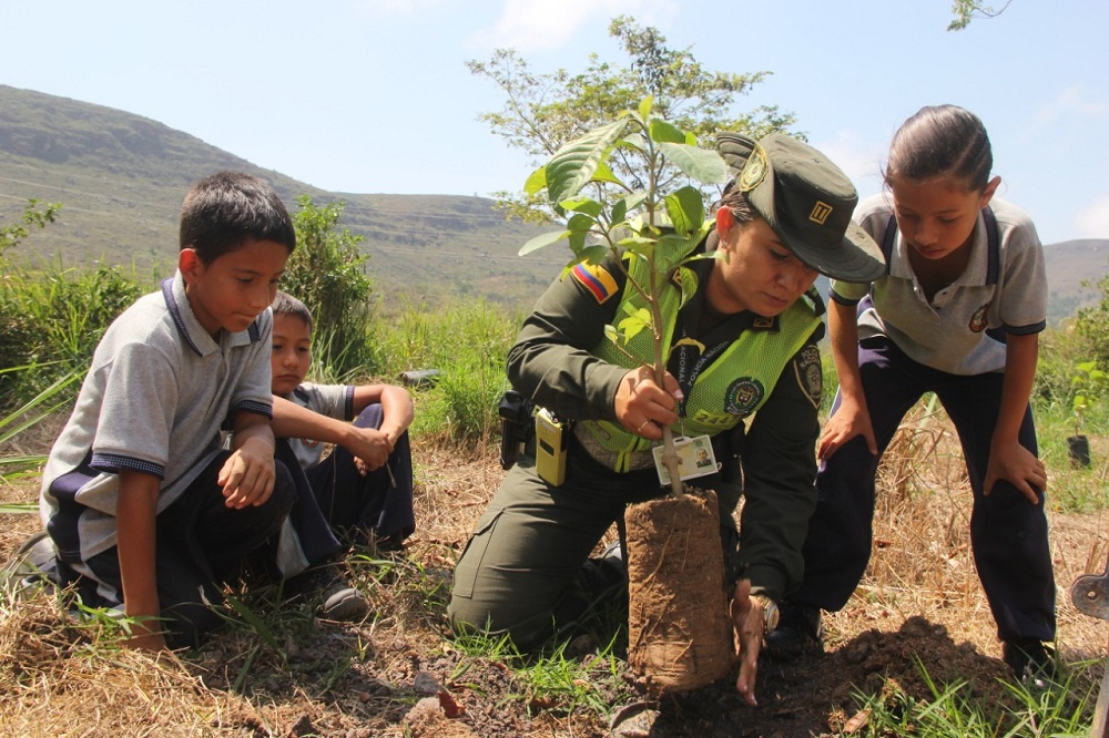
M 538 229 L 506 222 L 491 199 L 325 192 L 156 121 L 0 85 L 0 222 L 32 197 L 63 205 L 58 223 L 28 242 L 39 256 L 164 271 L 185 191 L 222 168 L 264 177 L 289 204 L 302 194 L 345 202 L 343 225 L 366 237 L 370 275 L 389 300 L 480 295 L 527 309 L 563 264 L 558 247 L 517 256 Z M 1046 257 L 1048 315 L 1057 322 L 1096 298 L 1082 281 L 1109 271 L 1109 240 L 1050 245 Z

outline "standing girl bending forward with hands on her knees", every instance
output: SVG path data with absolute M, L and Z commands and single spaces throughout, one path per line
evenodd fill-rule
M 869 286 L 832 285 L 840 390 L 820 441 L 805 580 L 782 607 L 771 655 L 817 646 L 821 608 L 842 608 L 857 586 L 871 554 L 878 460 L 905 413 L 933 391 L 963 443 L 970 542 L 1003 657 L 1021 679 L 1051 666 L 1047 476 L 1028 404 L 1047 279 L 1036 228 L 995 197 L 1000 177 L 991 166 L 974 113 L 924 107 L 894 135 L 887 192 L 856 209 L 883 244 L 887 274 Z

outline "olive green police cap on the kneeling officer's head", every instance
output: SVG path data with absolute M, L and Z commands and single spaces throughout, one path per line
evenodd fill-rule
M 798 259 L 843 281 L 885 274 L 878 245 L 851 219 L 855 186 L 824 154 L 782 133 L 754 142 L 723 132 L 716 148 L 735 174 L 724 192 L 739 187 Z

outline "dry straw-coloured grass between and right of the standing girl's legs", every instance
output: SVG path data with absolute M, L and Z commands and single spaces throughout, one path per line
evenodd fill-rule
M 1097 458 L 1105 459 L 1103 454 Z M 1049 485 L 1068 470 L 1049 469 Z M 1050 493 L 1050 486 L 1049 486 Z M 944 625 L 955 642 L 1000 657 L 1000 643 L 970 551 L 971 492 L 958 438 L 943 411 L 918 407 L 883 458 L 874 550 L 862 585 L 828 617 L 835 647 L 867 628 L 896 629 L 913 615 Z M 1105 655 L 1103 621 L 1079 613 L 1070 585 L 1106 571 L 1109 511 L 1048 511 L 1058 587 L 1058 646 L 1068 660 Z

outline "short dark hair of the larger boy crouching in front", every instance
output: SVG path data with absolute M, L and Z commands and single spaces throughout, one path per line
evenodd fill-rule
M 296 230 L 285 205 L 262 180 L 220 172 L 192 186 L 181 205 L 181 248 L 196 249 L 204 264 L 246 240 L 272 240 L 296 248 Z

